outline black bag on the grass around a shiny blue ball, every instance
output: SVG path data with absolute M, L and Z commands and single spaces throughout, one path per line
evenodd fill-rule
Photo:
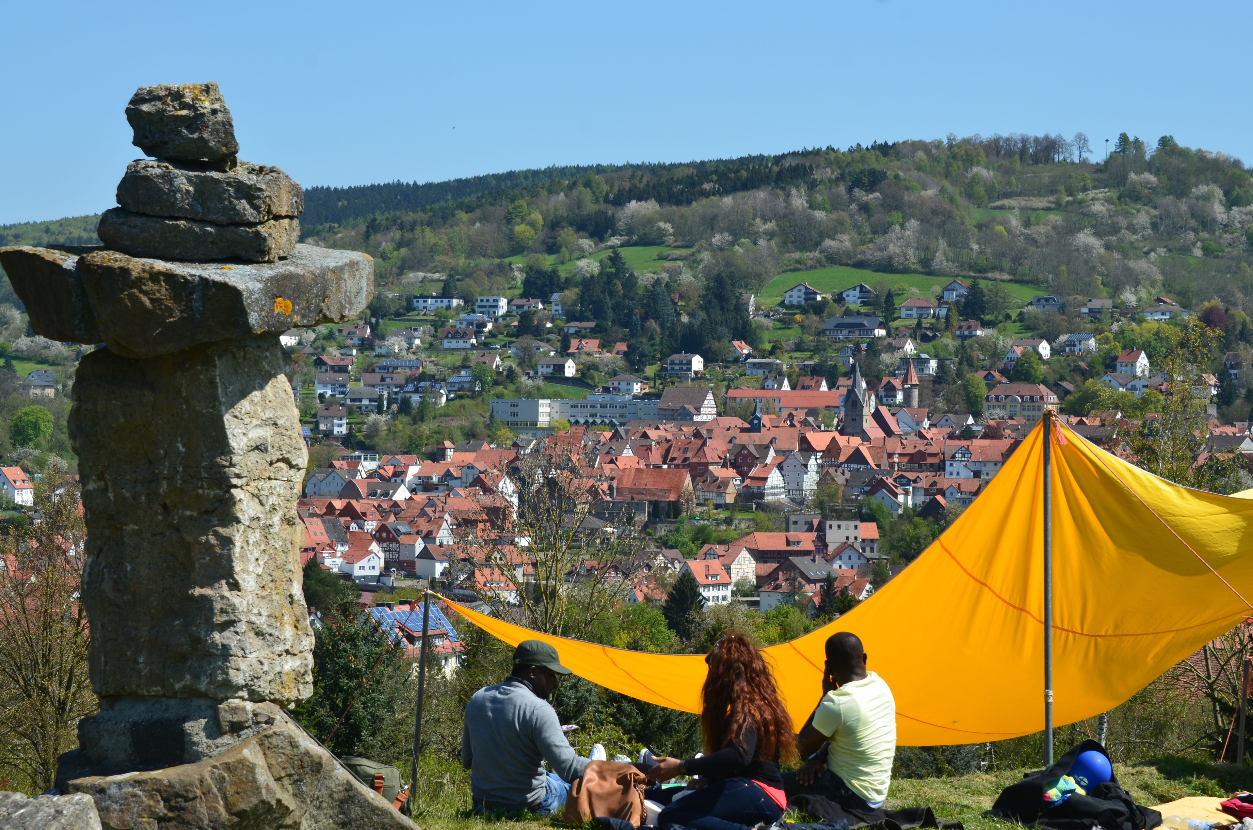
M 1070 772 L 1080 752 L 1096 750 L 1105 757 L 1105 747 L 1096 741 L 1084 741 L 1048 770 L 1029 772 L 1017 784 L 1001 790 L 992 809 L 984 814 L 989 819 L 1017 821 L 1034 827 L 1051 830 L 1152 830 L 1162 824 L 1162 814 L 1141 807 L 1118 785 L 1118 776 L 1099 784 L 1088 795 L 1074 792 L 1059 805 L 1045 807 L 1044 792 L 1049 785 Z

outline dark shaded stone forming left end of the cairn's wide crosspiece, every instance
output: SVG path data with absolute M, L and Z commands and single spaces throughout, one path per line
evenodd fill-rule
M 79 256 L 100 250 L 0 248 L 0 265 L 26 306 L 31 331 L 63 342 L 98 344 L 104 340 L 78 270 Z

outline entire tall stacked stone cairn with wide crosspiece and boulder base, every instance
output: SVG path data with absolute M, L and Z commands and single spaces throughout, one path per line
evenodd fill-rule
M 301 187 L 237 160 L 217 84 L 142 87 L 127 118 L 157 158 L 128 165 L 105 244 L 0 248 L 35 334 L 103 344 L 69 423 L 100 712 L 58 789 L 105 830 L 412 827 L 288 715 L 313 661 L 278 335 L 352 320 L 373 262 L 297 243 Z

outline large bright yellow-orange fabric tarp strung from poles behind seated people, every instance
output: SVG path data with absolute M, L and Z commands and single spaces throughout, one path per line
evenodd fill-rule
M 1044 726 L 1044 428 L 944 535 L 823 628 L 766 649 L 797 728 L 821 690 L 823 643 L 853 631 L 896 696 L 902 746 L 972 743 Z M 1182 488 L 1058 424 L 1053 438 L 1054 718 L 1128 700 L 1253 608 L 1253 502 Z M 452 606 L 516 644 L 539 638 L 580 677 L 699 711 L 700 656 L 649 654 Z

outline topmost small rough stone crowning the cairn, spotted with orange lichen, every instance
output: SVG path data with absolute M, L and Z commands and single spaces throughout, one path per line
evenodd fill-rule
M 127 104 L 133 144 L 182 162 L 226 159 L 239 152 L 234 122 L 217 83 L 140 87 Z

